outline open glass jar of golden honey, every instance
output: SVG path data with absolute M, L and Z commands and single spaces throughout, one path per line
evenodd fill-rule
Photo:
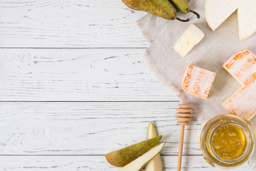
M 218 115 L 204 126 L 200 145 L 210 165 L 235 167 L 242 165 L 254 148 L 250 123 L 237 115 Z

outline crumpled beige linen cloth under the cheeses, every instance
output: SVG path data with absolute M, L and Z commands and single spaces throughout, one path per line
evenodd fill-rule
M 222 107 L 222 103 L 241 85 L 225 71 L 222 65 L 235 52 L 242 49 L 248 49 L 256 54 L 256 33 L 250 38 L 239 40 L 236 12 L 215 31 L 211 31 L 204 16 L 205 0 L 191 0 L 188 4 L 190 9 L 198 11 L 201 19 L 196 19 L 193 14 L 178 12 L 181 19 L 188 17 L 191 19 L 183 23 L 177 20 L 167 21 L 146 14 L 137 21 L 137 25 L 145 38 L 151 42 L 144 55 L 150 68 L 155 71 L 156 76 L 164 85 L 176 91 L 183 103 L 193 105 L 195 118 L 206 123 L 216 115 L 228 113 Z M 205 37 L 193 47 L 187 56 L 181 57 L 173 47 L 190 24 L 198 26 L 205 33 Z M 201 100 L 182 90 L 181 80 L 188 63 L 217 73 L 207 100 Z M 256 96 L 256 92 L 252 93 Z M 256 133 L 256 116 L 250 120 L 250 123 Z M 247 164 L 252 170 L 256 170 L 256 150 Z

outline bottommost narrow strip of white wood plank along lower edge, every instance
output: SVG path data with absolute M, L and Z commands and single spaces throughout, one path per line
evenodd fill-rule
M 162 156 L 165 171 L 176 170 L 177 156 Z M 214 167 L 203 160 L 203 156 L 183 156 L 182 170 L 214 171 Z M 117 171 L 100 156 L 0 156 L 0 170 L 30 171 Z M 232 171 L 250 170 L 246 165 Z

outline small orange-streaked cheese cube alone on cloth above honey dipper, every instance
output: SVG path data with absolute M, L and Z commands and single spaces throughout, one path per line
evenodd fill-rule
M 182 81 L 182 88 L 191 95 L 206 99 L 213 85 L 216 73 L 188 64 Z

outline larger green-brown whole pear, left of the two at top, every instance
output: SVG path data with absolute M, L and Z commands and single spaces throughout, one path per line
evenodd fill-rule
M 177 17 L 176 9 L 168 0 L 122 0 L 130 9 L 146 11 L 161 18 L 174 20 Z

